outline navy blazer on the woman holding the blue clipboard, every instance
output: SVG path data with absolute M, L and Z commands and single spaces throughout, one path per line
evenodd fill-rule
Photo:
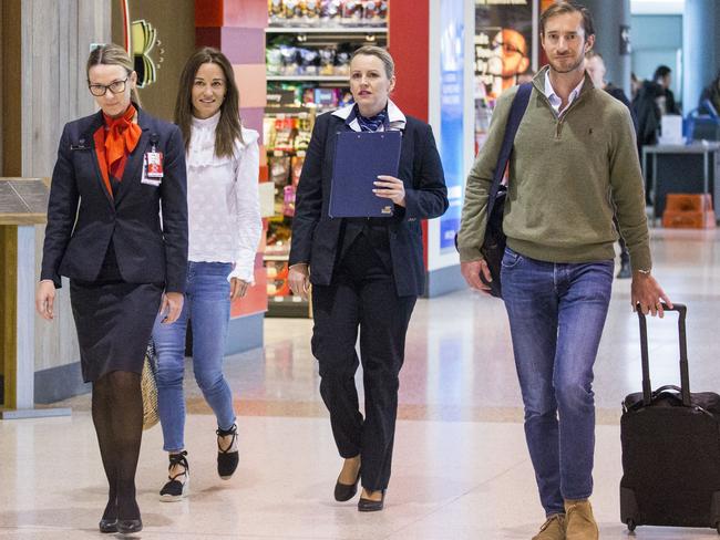
M 330 113 L 318 116 L 308 146 L 292 219 L 289 264 L 310 266 L 310 281 L 328 285 L 340 246 L 342 218 L 328 216 L 337 134 L 350 129 Z M 405 186 L 405 207 L 394 207 L 388 220 L 392 272 L 398 295 L 420 295 L 425 287 L 422 228 L 419 219 L 442 216 L 448 189 L 432 128 L 407 117 L 398 178 Z

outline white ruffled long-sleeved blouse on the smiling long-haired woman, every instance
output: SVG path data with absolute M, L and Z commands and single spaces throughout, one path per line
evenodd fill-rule
M 217 157 L 215 128 L 219 120 L 219 112 L 209 118 L 193 118 L 186 156 L 188 259 L 232 262 L 228 280 L 251 283 L 263 230 L 258 133 L 243 127 L 243 143 L 236 142 L 235 155 Z

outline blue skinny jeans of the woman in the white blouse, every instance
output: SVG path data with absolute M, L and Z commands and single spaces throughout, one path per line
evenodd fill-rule
M 205 401 L 220 429 L 235 424 L 233 394 L 223 375 L 223 355 L 230 318 L 229 262 L 193 262 L 187 268 L 183 312 L 173 324 L 155 320 L 153 340 L 157 351 L 157 409 L 166 451 L 185 448 L 185 333 L 193 325 L 193 370 Z

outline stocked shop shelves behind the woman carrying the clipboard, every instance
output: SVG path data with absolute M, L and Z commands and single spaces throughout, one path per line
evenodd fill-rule
M 315 118 L 352 103 L 350 56 L 388 42 L 389 0 L 269 0 L 267 106 L 263 123 L 275 215 L 268 219 L 265 268 L 268 316 L 307 316 L 287 283 L 295 198 Z

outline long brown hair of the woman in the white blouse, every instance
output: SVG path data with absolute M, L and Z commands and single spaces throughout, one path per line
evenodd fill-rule
M 175 102 L 175 124 L 181 128 L 185 139 L 185 150 L 191 144 L 191 127 L 193 125 L 193 85 L 200 65 L 213 63 L 220 66 L 225 75 L 225 98 L 220 105 L 220 120 L 215 129 L 215 155 L 218 157 L 233 156 L 235 141 L 243 142 L 239 100 L 240 93 L 235 84 L 235 75 L 230 62 L 217 49 L 204 46 L 196 51 L 183 69 Z

